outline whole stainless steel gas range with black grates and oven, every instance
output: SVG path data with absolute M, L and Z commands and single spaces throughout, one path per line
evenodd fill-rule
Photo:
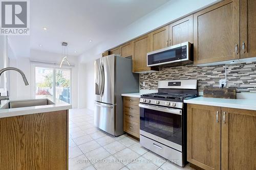
M 158 82 L 158 93 L 140 97 L 140 144 L 180 166 L 186 164 L 185 99 L 198 96 L 197 80 Z

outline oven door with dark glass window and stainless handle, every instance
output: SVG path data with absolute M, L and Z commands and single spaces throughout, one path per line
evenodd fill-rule
M 139 104 L 140 134 L 182 152 L 182 110 Z

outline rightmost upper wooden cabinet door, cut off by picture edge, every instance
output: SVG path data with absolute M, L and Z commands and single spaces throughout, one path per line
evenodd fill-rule
M 256 57 L 256 1 L 241 0 L 240 4 L 240 56 Z

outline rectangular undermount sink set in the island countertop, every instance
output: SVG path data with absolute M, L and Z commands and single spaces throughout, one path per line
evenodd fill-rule
M 54 105 L 52 101 L 48 99 L 32 99 L 32 100 L 20 100 L 20 101 L 10 101 L 6 103 L 0 109 L 12 109 L 20 107 L 31 107 L 31 106 L 45 106 L 45 105 Z

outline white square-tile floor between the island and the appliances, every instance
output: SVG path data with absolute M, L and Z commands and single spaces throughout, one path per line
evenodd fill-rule
M 131 160 L 134 160 L 133 162 Z M 122 135 L 112 136 L 94 127 L 93 112 L 71 109 L 69 112 L 69 169 L 162 169 L 188 170 L 167 162 L 141 147 L 139 141 Z

